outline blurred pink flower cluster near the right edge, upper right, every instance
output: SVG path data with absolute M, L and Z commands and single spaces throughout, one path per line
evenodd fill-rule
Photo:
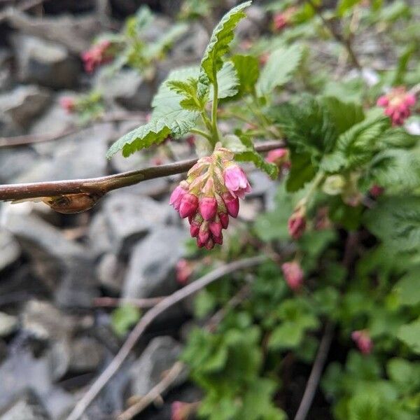
M 405 87 L 394 87 L 390 92 L 379 97 L 377 105 L 385 108 L 385 114 L 393 125 L 402 125 L 411 115 L 411 108 L 416 104 L 414 94 L 409 94 Z

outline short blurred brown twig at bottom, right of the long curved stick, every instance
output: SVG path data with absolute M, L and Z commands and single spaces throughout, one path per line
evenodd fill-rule
M 169 372 L 165 377 L 160 381 L 156 386 L 154 386 L 151 391 L 149 391 L 144 397 L 141 397 L 139 402 L 136 402 L 131 407 L 127 408 L 125 412 L 121 413 L 117 419 L 118 420 L 131 420 L 134 416 L 141 413 L 148 405 L 151 405 L 152 402 L 160 398 L 162 393 L 165 393 L 168 388 L 176 381 L 179 377 L 185 365 L 182 362 L 176 362 L 171 367 Z

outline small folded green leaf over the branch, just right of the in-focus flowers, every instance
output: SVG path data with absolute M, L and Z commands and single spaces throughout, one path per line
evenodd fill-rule
M 228 135 L 225 136 L 222 144 L 235 153 L 235 160 L 238 162 L 252 162 L 255 167 L 264 171 L 272 179 L 276 179 L 279 175 L 279 168 L 267 162 L 260 153 L 256 152 L 251 139 L 248 137 Z

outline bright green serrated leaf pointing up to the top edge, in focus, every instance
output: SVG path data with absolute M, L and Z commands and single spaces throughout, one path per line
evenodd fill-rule
M 229 45 L 234 37 L 234 30 L 239 20 L 245 18 L 244 8 L 251 5 L 251 1 L 239 4 L 226 13 L 214 28 L 209 45 L 204 51 L 201 68 L 207 77 L 214 82 L 214 76 L 223 66 L 223 56 L 229 52 Z

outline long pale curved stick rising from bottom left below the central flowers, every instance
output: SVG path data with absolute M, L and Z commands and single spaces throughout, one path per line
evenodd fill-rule
M 76 404 L 73 411 L 69 414 L 66 420 L 78 420 L 80 416 L 85 412 L 85 409 L 90 405 L 90 403 L 97 397 L 102 388 L 107 384 L 109 379 L 113 377 L 114 374 L 118 371 L 120 366 L 123 364 L 124 360 L 132 351 L 132 348 L 137 343 L 141 335 L 144 333 L 146 328 L 155 320 L 157 316 L 165 312 L 169 307 L 174 306 L 174 304 L 181 302 L 186 299 L 186 297 L 197 293 L 197 291 L 208 286 L 210 283 L 213 283 L 217 279 L 237 271 L 238 269 L 244 269 L 248 267 L 253 267 L 254 265 L 259 265 L 261 262 L 266 260 L 265 255 L 260 255 L 253 258 L 245 258 L 244 260 L 239 260 L 235 262 L 230 262 L 230 264 L 223 265 L 214 269 L 212 272 L 209 272 L 205 276 L 202 276 L 200 279 L 194 281 L 193 283 L 188 284 L 188 286 L 177 290 L 172 295 L 165 297 L 161 300 L 155 307 L 150 311 L 146 312 L 141 318 L 139 323 L 134 327 L 130 335 L 127 337 L 127 340 L 121 347 L 120 351 L 116 354 L 115 358 L 111 363 L 106 367 L 104 372 L 99 375 L 99 377 L 94 381 L 92 386 L 89 388 L 87 393 L 83 395 L 80 401 Z

